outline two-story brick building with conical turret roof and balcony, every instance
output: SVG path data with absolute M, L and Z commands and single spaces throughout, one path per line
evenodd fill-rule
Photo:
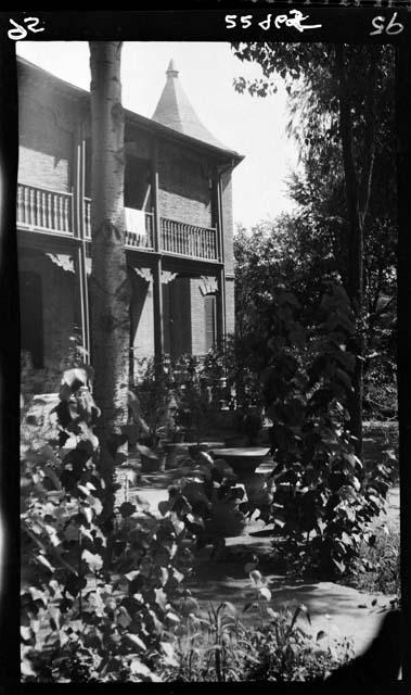
M 90 94 L 20 59 L 18 98 L 22 349 L 36 368 L 59 369 L 75 327 L 92 354 Z M 125 151 L 131 368 L 204 355 L 234 330 L 231 173 L 242 156 L 201 123 L 172 61 L 153 117 L 126 111 Z

